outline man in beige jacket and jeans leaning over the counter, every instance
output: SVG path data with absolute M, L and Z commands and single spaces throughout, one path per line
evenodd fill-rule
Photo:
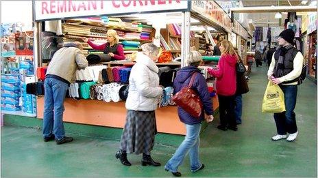
M 82 44 L 65 44 L 54 53 L 45 76 L 43 137 L 44 141 L 56 139 L 56 144 L 68 143 L 72 137 L 65 136 L 63 125 L 64 99 L 71 79 L 78 68 L 85 68 L 88 62 L 81 53 Z

